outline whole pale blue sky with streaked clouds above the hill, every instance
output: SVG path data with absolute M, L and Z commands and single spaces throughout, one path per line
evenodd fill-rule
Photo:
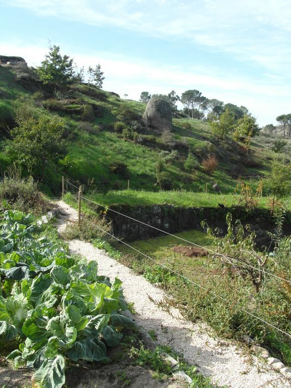
M 263 126 L 291 112 L 290 19 L 289 0 L 0 0 L 0 55 L 38 66 L 50 41 L 122 98 L 198 89 Z

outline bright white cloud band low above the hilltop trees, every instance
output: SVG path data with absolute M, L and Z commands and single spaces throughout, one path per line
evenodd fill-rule
M 40 64 L 47 52 L 46 42 L 26 45 L 22 42 L 1 43 L 0 52 L 24 57 L 29 65 Z M 82 55 L 69 52 L 62 47 L 63 54 L 70 53 L 78 66 L 94 66 L 100 62 L 105 72 L 104 89 L 115 91 L 122 97 L 138 100 L 141 91 L 169 93 L 174 89 L 181 94 L 187 89 L 199 89 L 208 98 L 217 98 L 225 103 L 246 106 L 257 118 L 260 125 L 275 123 L 281 113 L 289 112 L 291 97 L 288 86 L 281 78 L 267 74 L 264 81 L 230 73 L 218 73 L 214 68 L 183 68 L 161 66 L 155 62 L 96 52 Z

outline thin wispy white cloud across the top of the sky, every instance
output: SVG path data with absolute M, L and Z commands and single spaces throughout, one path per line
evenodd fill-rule
M 37 15 L 189 39 L 273 71 L 289 69 L 289 0 L 0 0 Z M 272 57 L 272 58 L 270 58 Z

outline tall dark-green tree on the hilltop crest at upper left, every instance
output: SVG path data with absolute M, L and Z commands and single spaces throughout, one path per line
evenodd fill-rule
M 44 83 L 53 83 L 55 93 L 57 88 L 61 91 L 62 86 L 66 86 L 75 81 L 75 70 L 73 59 L 67 55 L 60 54 L 60 46 L 50 46 L 49 54 L 46 54 L 45 60 L 37 68 L 40 80 Z

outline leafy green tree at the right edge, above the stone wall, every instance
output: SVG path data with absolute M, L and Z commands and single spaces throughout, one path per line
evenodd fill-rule
M 291 190 L 291 164 L 284 161 L 273 161 L 271 176 L 268 186 L 272 192 L 272 211 L 274 210 L 275 198 L 283 198 L 289 195 Z

